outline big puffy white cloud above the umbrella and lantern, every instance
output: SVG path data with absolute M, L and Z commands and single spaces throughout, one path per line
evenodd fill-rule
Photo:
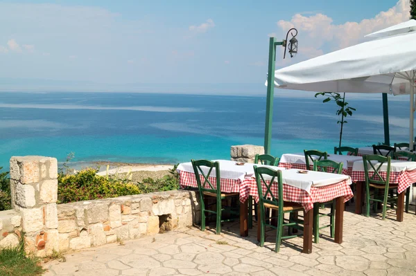
M 379 12 L 375 17 L 360 22 L 345 22 L 337 25 L 333 24 L 331 17 L 322 13 L 308 16 L 297 13 L 290 21 L 278 21 L 277 26 L 280 30 L 279 36 L 282 38 L 286 37 L 286 32 L 290 28 L 297 28 L 299 55 L 302 60 L 363 42 L 364 36 L 369 33 L 407 21 L 409 10 L 409 1 L 399 0 L 389 10 Z M 276 36 L 275 33 L 270 35 Z M 299 61 L 297 59 L 297 62 Z

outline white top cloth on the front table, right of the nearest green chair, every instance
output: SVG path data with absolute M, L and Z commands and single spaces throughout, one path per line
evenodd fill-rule
M 281 172 L 283 183 L 298 187 L 306 192 L 311 191 L 311 187 L 321 187 L 333 185 L 341 181 L 348 181 L 351 184 L 351 178 L 345 174 L 330 174 L 328 172 L 308 171 L 307 174 L 300 174 L 299 169 L 286 169 Z

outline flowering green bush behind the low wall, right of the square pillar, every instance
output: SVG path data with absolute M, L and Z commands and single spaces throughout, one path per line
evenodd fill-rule
M 76 174 L 58 176 L 58 203 L 105 199 L 141 194 L 137 185 L 96 175 L 95 169 L 84 169 Z

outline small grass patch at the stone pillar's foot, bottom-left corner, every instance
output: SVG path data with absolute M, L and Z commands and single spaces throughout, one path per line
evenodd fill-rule
M 39 265 L 40 259 L 26 256 L 24 252 L 24 236 L 19 246 L 0 250 L 0 275 L 2 276 L 37 276 L 44 273 Z

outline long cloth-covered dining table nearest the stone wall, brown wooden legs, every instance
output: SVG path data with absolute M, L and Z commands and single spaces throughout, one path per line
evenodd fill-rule
M 240 200 L 240 235 L 248 236 L 248 198 L 252 196 L 258 200 L 257 183 L 254 176 L 254 164 L 245 163 L 236 165 L 235 161 L 218 161 L 220 167 L 221 192 L 238 192 Z M 266 166 L 266 165 L 257 165 Z M 354 195 L 350 185 L 352 180 L 343 174 L 330 174 L 325 172 L 308 171 L 300 173 L 299 169 L 286 169 L 285 167 L 266 166 L 279 169 L 284 181 L 284 201 L 300 203 L 304 208 L 304 253 L 312 252 L 313 236 L 313 203 L 324 203 L 336 200 L 335 242 L 343 242 L 343 212 L 345 202 Z M 181 187 L 198 187 L 196 176 L 193 173 L 191 163 L 181 163 L 177 166 L 180 174 Z M 215 175 L 214 172 L 211 172 Z M 216 178 L 209 176 L 211 183 Z M 277 185 L 272 185 L 277 187 Z

